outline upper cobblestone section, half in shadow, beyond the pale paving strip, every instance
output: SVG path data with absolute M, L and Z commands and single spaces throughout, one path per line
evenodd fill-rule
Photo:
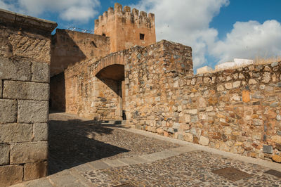
M 52 113 L 49 118 L 50 174 L 94 160 L 133 157 L 179 146 L 73 115 Z

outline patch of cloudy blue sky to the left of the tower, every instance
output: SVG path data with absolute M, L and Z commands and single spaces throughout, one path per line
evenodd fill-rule
M 14 6 L 16 4 L 16 6 Z M 94 18 L 100 6 L 99 0 L 0 0 L 0 8 L 39 16 L 55 12 L 67 21 L 88 22 Z

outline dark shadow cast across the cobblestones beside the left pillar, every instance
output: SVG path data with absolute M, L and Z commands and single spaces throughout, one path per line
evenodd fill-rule
M 91 120 L 50 120 L 48 128 L 49 174 L 130 151 L 95 140 L 113 129 Z

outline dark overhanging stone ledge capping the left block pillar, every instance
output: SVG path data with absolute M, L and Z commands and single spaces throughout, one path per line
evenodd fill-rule
M 16 25 L 22 25 L 24 27 L 34 27 L 39 30 L 44 30 L 48 32 L 52 32 L 55 29 L 55 27 L 58 26 L 56 22 L 43 20 L 40 18 L 34 18 L 29 15 L 22 15 L 11 11 L 6 11 L 1 8 L 0 8 L 0 21 L 10 22 Z

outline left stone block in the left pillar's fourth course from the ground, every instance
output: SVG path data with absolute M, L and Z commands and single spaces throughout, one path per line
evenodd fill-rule
M 0 122 L 17 121 L 17 101 L 0 99 Z

